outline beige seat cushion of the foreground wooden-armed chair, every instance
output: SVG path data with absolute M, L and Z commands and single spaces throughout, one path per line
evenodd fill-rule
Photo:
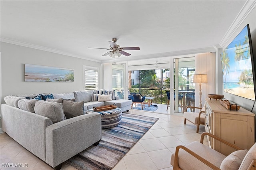
M 195 152 L 196 154 L 202 156 L 206 160 L 210 160 L 210 162 L 217 167 L 220 167 L 221 162 L 224 160 L 224 158 L 226 158 L 225 155 L 209 148 L 209 146 L 206 146 L 200 142 L 192 142 L 186 145 L 186 147 Z M 171 165 L 174 165 L 174 156 L 175 153 L 172 154 Z M 208 167 L 206 164 L 199 161 L 197 158 L 184 151 L 183 149 L 179 150 L 178 160 L 179 166 L 183 170 L 198 170 L 199 167 L 202 170 L 211 170 L 210 167 Z

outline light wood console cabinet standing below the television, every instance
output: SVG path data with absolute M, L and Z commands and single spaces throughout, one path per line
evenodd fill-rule
M 205 130 L 243 149 L 254 144 L 255 115 L 240 107 L 238 111 L 228 110 L 219 100 L 205 100 Z M 229 155 L 236 151 L 226 144 L 208 137 L 209 146 L 218 152 Z

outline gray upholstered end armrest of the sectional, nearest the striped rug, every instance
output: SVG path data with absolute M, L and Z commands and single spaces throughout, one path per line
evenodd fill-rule
M 46 128 L 46 163 L 56 167 L 101 139 L 101 115 L 89 113 Z

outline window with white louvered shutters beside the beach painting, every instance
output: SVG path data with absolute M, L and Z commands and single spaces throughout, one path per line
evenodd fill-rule
M 98 89 L 99 68 L 84 66 L 84 90 Z

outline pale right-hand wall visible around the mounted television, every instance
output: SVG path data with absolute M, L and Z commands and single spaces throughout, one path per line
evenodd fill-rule
M 244 19 L 243 22 L 238 26 L 236 31 L 230 36 L 228 41 L 223 45 L 222 49 L 225 49 L 229 43 L 234 40 L 234 38 L 240 33 L 240 31 L 249 24 L 251 37 L 252 37 L 252 45 L 253 45 L 253 52 L 254 52 L 254 59 L 256 59 L 256 7 L 248 14 L 248 16 Z M 218 55 L 218 59 L 220 59 L 220 55 Z M 255 66 L 254 66 L 255 67 Z M 218 62 L 218 69 L 221 69 L 221 63 Z M 222 77 L 218 77 L 218 79 L 222 79 Z M 222 86 L 222 94 L 224 95 L 224 98 L 244 107 L 248 111 L 251 111 L 254 101 L 244 99 L 242 97 L 238 97 L 229 93 L 224 92 L 223 86 Z M 256 113 L 256 106 L 254 106 L 254 109 L 252 111 L 253 113 Z

